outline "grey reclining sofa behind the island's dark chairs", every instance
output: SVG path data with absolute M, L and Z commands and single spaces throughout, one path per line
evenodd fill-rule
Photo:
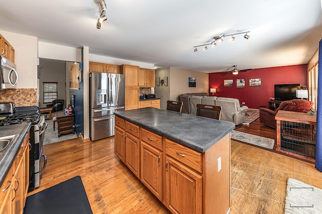
M 221 106 L 221 120 L 233 122 L 236 125 L 245 122 L 245 113 L 248 110 L 248 107 L 241 106 L 238 99 L 207 95 L 207 93 L 180 95 L 180 101 L 183 102 L 182 112 L 196 115 L 197 104 Z

